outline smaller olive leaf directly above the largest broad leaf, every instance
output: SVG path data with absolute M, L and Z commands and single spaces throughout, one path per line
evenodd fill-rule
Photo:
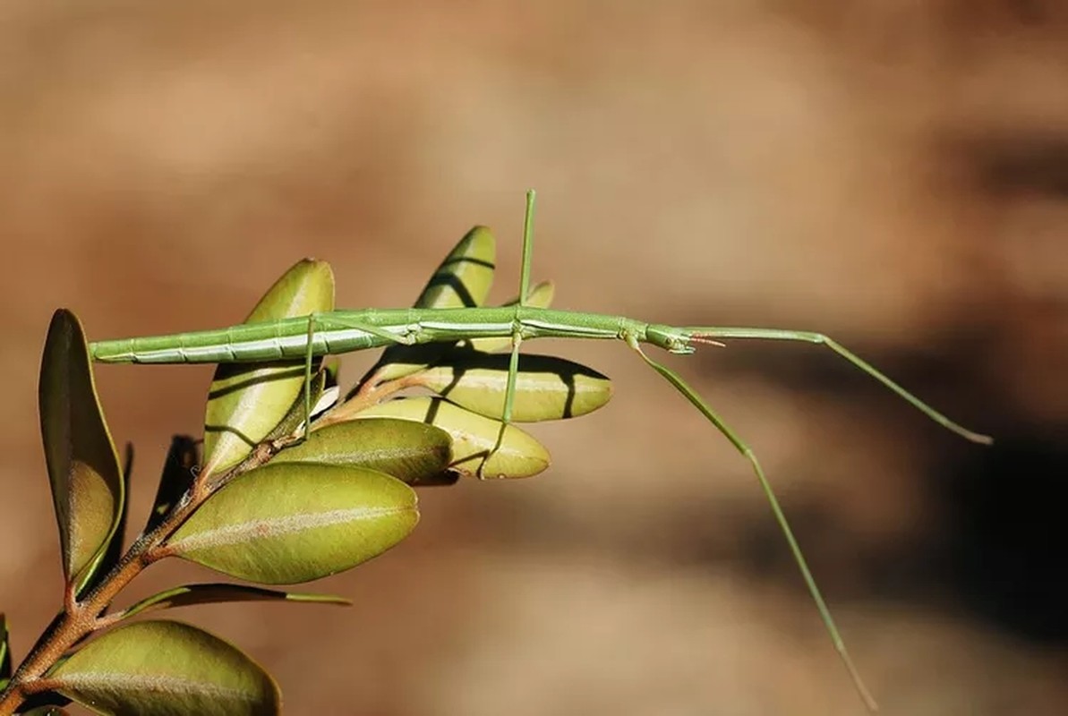
M 325 463 L 377 470 L 408 484 L 451 484 L 452 439 L 422 423 L 380 418 L 349 420 L 315 430 L 303 443 L 279 452 L 271 464 Z

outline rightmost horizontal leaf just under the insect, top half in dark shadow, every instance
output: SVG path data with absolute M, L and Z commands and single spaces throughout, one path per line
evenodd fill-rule
M 501 419 L 508 384 L 506 353 L 459 353 L 412 377 L 412 382 L 471 412 Z M 519 356 L 512 419 L 559 420 L 591 413 L 612 397 L 612 382 L 585 366 L 551 355 Z

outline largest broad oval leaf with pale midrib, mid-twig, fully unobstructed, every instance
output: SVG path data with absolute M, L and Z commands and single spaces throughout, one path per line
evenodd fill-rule
M 167 551 L 230 576 L 297 584 L 375 557 L 419 522 L 415 493 L 367 470 L 267 464 L 211 495 Z

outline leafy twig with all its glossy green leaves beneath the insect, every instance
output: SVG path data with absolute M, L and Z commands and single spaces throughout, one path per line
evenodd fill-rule
M 415 305 L 481 305 L 494 253 L 489 232 L 472 229 Z M 329 312 L 333 297 L 329 265 L 302 260 L 248 321 Z M 546 306 L 551 297 L 551 284 L 540 284 L 528 301 Z M 213 602 L 345 600 L 192 584 L 109 612 L 115 595 L 168 556 L 260 585 L 317 579 L 410 534 L 419 520 L 413 486 L 541 472 L 546 449 L 501 421 L 508 356 L 499 351 L 508 348 L 508 339 L 393 346 L 343 400 L 335 368 L 318 361 L 311 369 L 299 361 L 220 365 L 202 445 L 174 439 L 155 506 L 123 554 L 130 460 L 120 460 L 104 419 L 82 329 L 72 313 L 58 311 L 40 398 L 63 609 L 14 672 L 0 616 L 0 714 L 63 714 L 70 701 L 120 715 L 279 713 L 274 681 L 236 647 L 182 622 L 130 618 Z M 435 395 L 402 395 L 412 388 Z M 539 355 L 522 357 L 515 389 L 513 419 L 519 421 L 581 415 L 611 395 L 603 376 Z

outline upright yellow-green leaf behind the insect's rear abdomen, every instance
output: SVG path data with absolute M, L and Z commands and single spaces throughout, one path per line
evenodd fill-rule
M 334 279 L 326 261 L 303 259 L 268 289 L 246 323 L 333 311 Z M 302 360 L 223 364 L 215 372 L 204 417 L 204 472 L 240 462 L 289 413 L 304 386 Z

